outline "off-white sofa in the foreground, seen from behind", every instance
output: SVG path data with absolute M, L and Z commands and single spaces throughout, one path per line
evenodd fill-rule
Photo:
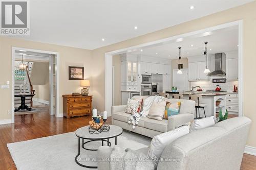
M 157 169 L 239 170 L 251 120 L 234 117 L 212 127 L 184 135 L 164 149 Z M 106 160 L 113 148 L 98 148 L 98 159 Z M 148 148 L 134 151 L 147 155 Z M 109 161 L 98 162 L 98 169 L 110 170 Z

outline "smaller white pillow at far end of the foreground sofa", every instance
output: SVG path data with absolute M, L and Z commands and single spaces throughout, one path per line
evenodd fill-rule
M 201 119 L 195 119 L 194 122 L 191 124 L 190 132 L 193 132 L 193 131 L 196 131 L 199 129 L 203 129 L 203 128 L 207 128 L 207 127 L 210 127 L 213 125 L 215 125 L 214 116 L 201 118 Z

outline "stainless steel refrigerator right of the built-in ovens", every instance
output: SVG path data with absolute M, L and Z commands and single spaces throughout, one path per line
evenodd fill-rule
M 163 75 L 152 74 L 152 95 L 163 92 Z

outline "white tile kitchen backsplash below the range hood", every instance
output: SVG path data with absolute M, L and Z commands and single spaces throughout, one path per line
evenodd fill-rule
M 238 81 L 226 81 L 226 83 L 212 83 L 212 79 L 219 79 L 220 77 L 212 77 L 210 78 L 210 81 L 207 82 L 190 82 L 190 88 L 192 86 L 200 86 L 204 91 L 206 90 L 215 90 L 216 85 L 219 85 L 221 87 L 221 90 L 226 90 L 226 91 L 233 91 L 234 89 L 234 85 L 236 85 L 236 87 L 238 87 L 239 90 L 239 86 L 238 86 Z

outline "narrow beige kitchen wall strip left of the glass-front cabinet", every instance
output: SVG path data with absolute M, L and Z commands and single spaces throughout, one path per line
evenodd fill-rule
M 114 104 L 121 105 L 121 57 L 119 55 L 113 56 L 114 66 Z

